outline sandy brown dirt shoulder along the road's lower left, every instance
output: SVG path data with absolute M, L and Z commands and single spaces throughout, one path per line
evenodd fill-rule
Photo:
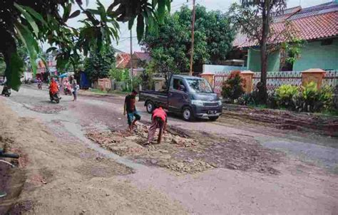
M 36 119 L 17 117 L 0 100 L 1 146 L 21 154 L 21 180 L 4 187 L 0 214 L 185 214 L 177 202 L 138 189 L 117 175 L 132 174 L 80 142 L 61 142 Z M 1 169 L 4 166 L 1 164 Z M 4 169 L 5 170 L 5 169 Z M 4 172 L 1 172 L 4 173 Z M 11 195 L 14 186 L 15 195 Z

